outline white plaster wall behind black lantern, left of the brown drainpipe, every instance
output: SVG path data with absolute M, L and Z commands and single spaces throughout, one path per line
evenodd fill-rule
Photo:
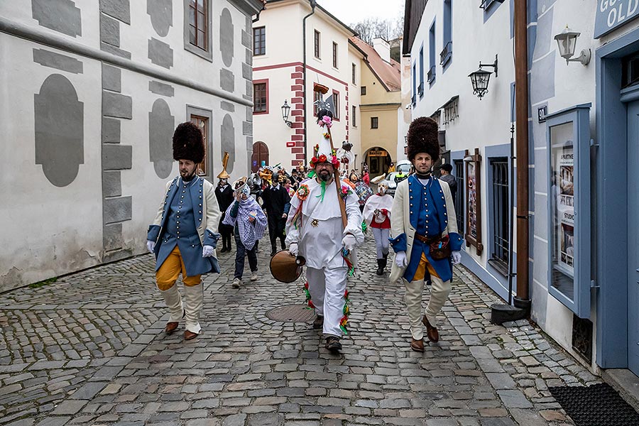
M 493 6 L 494 7 L 494 6 Z M 486 268 L 488 260 L 488 200 L 486 167 L 488 158 L 485 147 L 502 145 L 510 142 L 510 84 L 514 81 L 514 65 L 512 40 L 510 39 L 510 9 L 508 1 L 498 6 L 492 16 L 484 23 L 484 11 L 479 7 L 464 7 L 459 1 L 452 6 L 452 63 L 442 73 L 439 65 L 439 53 L 443 48 L 443 1 L 429 1 L 426 4 L 420 28 L 415 36 L 415 43 L 410 50 L 410 69 L 417 64 L 417 82 L 420 82 L 419 53 L 424 47 L 424 96 L 417 94 L 417 105 L 412 111 L 412 118 L 431 116 L 448 100 L 459 96 L 459 117 L 447 126 L 440 126 L 446 131 L 447 148 L 450 151 L 470 153 L 479 148 L 481 162 L 481 229 L 484 251 L 476 255 L 474 246 L 465 247 L 466 252 L 479 265 Z M 435 23 L 435 83 L 429 87 L 427 72 L 429 69 L 429 31 L 433 19 Z M 472 37 L 469 37 L 472 34 Z M 498 77 L 493 74 L 488 86 L 488 93 L 483 99 L 473 94 L 468 75 L 479 68 L 479 62 L 492 64 L 498 55 Z M 491 71 L 492 68 L 484 68 Z M 412 90 L 412 75 L 408 76 L 409 88 Z M 406 80 L 405 80 L 406 81 Z M 410 102 L 410 101 L 409 101 Z M 442 119 L 440 123 L 443 121 Z M 408 129 L 407 129 L 408 130 Z M 463 190 L 463 188 L 462 188 Z

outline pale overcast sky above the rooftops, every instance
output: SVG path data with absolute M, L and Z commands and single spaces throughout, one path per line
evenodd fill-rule
M 404 13 L 405 0 L 317 0 L 317 3 L 350 25 L 366 18 L 395 21 Z

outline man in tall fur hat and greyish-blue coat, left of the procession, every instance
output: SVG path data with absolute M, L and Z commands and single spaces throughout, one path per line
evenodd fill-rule
M 195 339 L 202 311 L 204 273 L 219 273 L 215 245 L 219 207 L 211 182 L 197 176 L 204 159 L 202 131 L 190 121 L 173 133 L 173 159 L 180 176 L 166 184 L 164 200 L 148 227 L 147 247 L 155 254 L 155 280 L 170 312 L 165 333 L 172 334 L 185 318 L 184 339 Z M 182 273 L 184 302 L 175 281 Z

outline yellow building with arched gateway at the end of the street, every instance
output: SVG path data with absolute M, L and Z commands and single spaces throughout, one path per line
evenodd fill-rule
M 396 163 L 398 116 L 401 111 L 401 65 L 391 59 L 386 40 L 376 38 L 373 46 L 351 37 L 365 57 L 361 66 L 361 153 L 371 178 L 386 173 Z

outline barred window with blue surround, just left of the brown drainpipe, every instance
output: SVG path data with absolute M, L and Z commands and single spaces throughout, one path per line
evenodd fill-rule
M 491 257 L 488 260 L 498 271 L 508 275 L 508 158 L 490 160 L 493 175 L 493 244 Z

